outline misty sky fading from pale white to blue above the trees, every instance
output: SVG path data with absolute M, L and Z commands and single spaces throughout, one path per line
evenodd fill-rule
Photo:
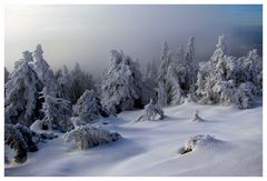
M 229 52 L 245 56 L 263 47 L 263 6 L 7 6 L 4 66 L 13 69 L 21 52 L 41 44 L 53 70 L 79 62 L 93 74 L 110 64 L 119 49 L 141 64 L 158 60 L 164 41 L 175 52 L 195 37 L 196 59 L 206 61 L 217 37 Z M 259 50 L 261 52 L 261 50 Z

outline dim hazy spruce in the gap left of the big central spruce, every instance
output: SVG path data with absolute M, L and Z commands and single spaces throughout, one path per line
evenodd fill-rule
M 93 86 L 92 76 L 88 72 L 83 72 L 79 63 L 76 63 L 75 69 L 70 72 L 70 78 L 72 103 L 76 103 L 86 90 L 96 89 Z

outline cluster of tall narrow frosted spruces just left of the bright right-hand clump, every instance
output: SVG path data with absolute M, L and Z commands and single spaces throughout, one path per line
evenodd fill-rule
M 181 104 L 186 97 L 195 97 L 197 67 L 194 61 L 194 42 L 195 38 L 190 37 L 186 50 L 179 46 L 176 53 L 170 53 L 167 42 L 162 44 L 157 88 L 162 107 Z

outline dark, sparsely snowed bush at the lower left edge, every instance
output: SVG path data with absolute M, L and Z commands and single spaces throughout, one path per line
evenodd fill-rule
M 29 128 L 17 124 L 4 124 L 4 145 L 11 148 L 14 151 L 14 162 L 23 163 L 27 160 L 27 152 L 38 151 L 38 135 L 30 131 Z M 4 154 L 7 151 L 4 147 Z M 8 160 L 9 161 L 9 160 Z

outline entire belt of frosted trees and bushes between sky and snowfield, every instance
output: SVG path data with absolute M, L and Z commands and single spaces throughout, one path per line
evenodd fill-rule
M 4 69 L 4 139 L 12 145 L 10 140 L 20 138 L 18 145 L 12 145 L 18 162 L 26 160 L 28 147 L 33 144 L 31 139 L 38 134 L 28 130 L 33 123 L 44 132 L 72 130 L 67 141 L 76 139 L 85 149 L 91 147 L 91 130 L 93 138 L 101 139 L 95 140 L 96 144 L 112 140 L 108 131 L 86 125 L 105 117 L 145 108 L 144 117 L 154 120 L 157 113 L 164 117 L 161 108 L 186 101 L 248 109 L 263 92 L 261 57 L 256 49 L 240 58 L 230 56 L 225 36 L 218 37 L 209 60 L 200 63 L 195 59 L 194 37 L 174 50 L 164 41 L 159 59 L 148 62 L 145 71 L 138 61 L 112 50 L 101 80 L 81 70 L 79 63 L 71 71 L 63 66 L 53 72 L 42 54 L 38 44 L 33 56 L 22 53 L 13 71 Z M 23 142 L 26 137 L 30 145 Z

